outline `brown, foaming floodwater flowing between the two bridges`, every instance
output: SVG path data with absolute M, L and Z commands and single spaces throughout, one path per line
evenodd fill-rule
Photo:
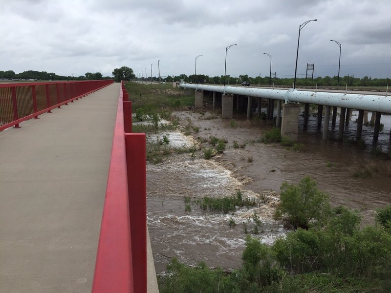
M 347 138 L 355 136 L 355 114 L 345 126 Z M 309 175 L 330 195 L 333 206 L 359 210 L 365 224 L 373 223 L 375 209 L 391 202 L 388 183 L 391 165 L 389 161 L 374 161 L 371 157 L 372 127 L 363 126 L 367 147 L 362 149 L 332 139 L 338 135 L 338 118 L 336 129 L 330 130 L 331 139 L 323 141 L 322 128 L 317 127 L 316 117 L 311 116 L 305 133 L 300 123 L 299 143 L 304 146 L 301 151 L 294 151 L 278 144 L 258 142 L 272 127 L 265 121 L 236 119 L 232 125 L 231 120 L 211 119 L 214 117 L 210 113 L 175 112 L 174 115 L 181 119 L 183 126 L 190 119 L 199 132 L 193 136 L 184 136 L 179 131 L 157 135 L 159 139 L 166 135 L 169 145 L 211 147 L 208 143 L 199 145 L 196 140 L 211 135 L 228 143 L 224 153 L 211 160 L 205 160 L 200 149 L 194 159 L 189 153 L 173 154 L 168 161 L 147 166 L 148 227 L 157 273 L 165 271 L 172 257 L 190 265 L 205 261 L 211 267 L 238 268 L 246 238 L 244 227 L 249 233 L 254 232 L 254 213 L 260 218 L 261 226 L 253 236 L 265 243 L 283 237 L 286 231 L 282 223 L 273 220 L 273 212 L 284 181 L 298 183 Z M 384 130 L 375 147 L 386 151 L 390 147 L 391 116 L 382 116 L 381 123 Z M 157 138 L 155 135 L 149 139 Z M 244 148 L 234 148 L 234 140 L 245 145 Z M 370 178 L 354 178 L 353 172 L 361 168 L 376 171 Z M 224 214 L 205 212 L 196 203 L 204 196 L 234 196 L 238 190 L 243 198 L 255 199 L 257 206 Z M 185 211 L 185 196 L 192 200 L 191 211 Z M 236 226 L 228 225 L 230 219 Z

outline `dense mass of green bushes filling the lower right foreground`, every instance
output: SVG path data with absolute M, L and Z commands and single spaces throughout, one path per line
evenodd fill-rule
M 377 210 L 376 226 L 361 228 L 357 211 L 331 209 L 327 195 L 309 177 L 298 185 L 282 184 L 281 189 L 280 213 L 296 223 L 296 230 L 273 245 L 247 236 L 237 270 L 211 269 L 204 262 L 189 267 L 174 258 L 167 272 L 158 276 L 160 292 L 390 292 L 391 206 Z M 239 201 L 240 196 L 229 200 Z M 189 205 L 190 198 L 185 203 Z M 255 213 L 253 221 L 259 221 Z M 235 225 L 230 218 L 229 226 Z M 243 226 L 247 233 L 248 223 Z M 252 232 L 256 230 L 253 227 Z

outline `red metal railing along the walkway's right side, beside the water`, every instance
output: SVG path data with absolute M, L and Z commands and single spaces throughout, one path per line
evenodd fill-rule
M 121 87 L 96 256 L 93 293 L 147 292 L 145 133 L 131 132 L 131 102 Z

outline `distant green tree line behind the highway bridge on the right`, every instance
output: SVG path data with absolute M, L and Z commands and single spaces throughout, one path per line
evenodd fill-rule
M 177 76 L 168 76 L 166 78 L 162 78 L 162 82 L 173 82 L 173 81 L 179 81 L 180 79 L 183 79 L 186 83 L 194 83 L 194 84 L 224 84 L 224 75 L 221 76 L 214 76 L 210 77 L 208 75 L 203 74 L 193 74 L 193 75 L 185 75 L 180 74 Z M 149 78 L 136 78 L 138 81 L 151 81 L 151 77 Z M 158 82 L 158 77 L 152 77 L 152 81 Z M 239 75 L 239 77 L 233 77 L 230 75 L 227 75 L 225 78 L 225 84 L 241 84 L 242 82 L 249 82 L 252 85 L 256 84 L 269 84 L 269 76 L 265 77 L 249 77 L 247 74 L 245 75 Z M 271 77 L 270 83 L 274 85 L 293 85 L 293 77 L 292 78 L 274 78 L 274 76 Z M 325 76 L 325 77 L 316 77 L 311 81 L 311 78 L 296 78 L 296 84 L 297 85 L 316 85 L 318 86 L 337 86 L 338 84 L 338 76 Z M 355 78 L 354 75 L 346 75 L 344 77 L 340 77 L 339 79 L 339 85 L 340 86 L 387 86 L 391 85 L 391 79 L 390 78 L 374 78 L 365 76 L 363 78 Z

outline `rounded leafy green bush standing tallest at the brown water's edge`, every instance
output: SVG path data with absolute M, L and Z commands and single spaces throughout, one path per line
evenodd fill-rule
M 330 210 L 328 195 L 316 186 L 317 183 L 308 176 L 298 185 L 282 183 L 281 202 L 275 218 L 284 219 L 294 229 L 308 229 L 310 221 L 324 220 Z

